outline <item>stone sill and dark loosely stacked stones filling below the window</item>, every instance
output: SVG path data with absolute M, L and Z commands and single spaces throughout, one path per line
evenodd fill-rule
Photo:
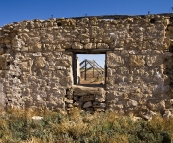
M 72 89 L 67 91 L 66 97 L 73 99 L 66 100 L 66 108 L 80 107 L 88 111 L 104 111 L 106 108 L 103 88 L 73 85 Z

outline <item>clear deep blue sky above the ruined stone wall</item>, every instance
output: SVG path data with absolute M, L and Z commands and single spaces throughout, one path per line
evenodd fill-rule
M 0 0 L 0 27 L 22 20 L 173 12 L 173 0 Z M 82 55 L 81 55 L 82 56 Z M 83 57 L 83 56 L 82 56 Z M 93 57 L 93 56 L 89 56 Z M 95 56 L 96 57 L 96 56 Z M 79 57 L 80 59 L 80 57 Z M 97 59 L 95 59 L 97 60 Z M 104 59 L 99 59 L 103 63 Z

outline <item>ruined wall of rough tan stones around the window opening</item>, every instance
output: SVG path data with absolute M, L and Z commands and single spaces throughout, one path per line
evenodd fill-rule
M 171 25 L 164 15 L 7 24 L 0 28 L 1 107 L 171 114 Z M 104 90 L 73 86 L 75 50 L 104 51 Z

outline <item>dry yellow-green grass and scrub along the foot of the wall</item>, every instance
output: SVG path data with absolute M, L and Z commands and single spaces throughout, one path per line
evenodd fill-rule
M 42 116 L 33 121 L 32 116 Z M 134 122 L 113 112 L 89 114 L 77 108 L 52 111 L 9 110 L 0 114 L 2 143 L 171 143 L 173 119 L 156 116 Z

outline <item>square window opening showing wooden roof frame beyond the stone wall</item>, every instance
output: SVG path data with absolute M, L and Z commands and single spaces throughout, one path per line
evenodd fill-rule
M 105 84 L 105 54 L 76 55 L 76 83 L 83 86 Z

